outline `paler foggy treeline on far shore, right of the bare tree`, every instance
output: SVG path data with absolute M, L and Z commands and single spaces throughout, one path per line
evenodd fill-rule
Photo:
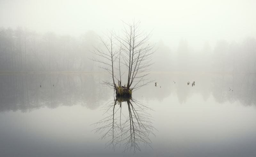
M 247 38 L 241 43 L 219 41 L 214 47 L 205 44 L 201 50 L 189 48 L 186 40 L 181 40 L 177 53 L 163 43 L 158 44 L 154 54 L 157 71 L 205 71 L 229 73 L 256 72 L 256 40 Z M 160 68 L 159 68 L 160 67 Z

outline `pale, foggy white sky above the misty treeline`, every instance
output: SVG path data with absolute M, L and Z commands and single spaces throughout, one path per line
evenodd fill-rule
M 153 29 L 153 42 L 177 47 L 185 39 L 200 49 L 205 42 L 255 38 L 255 8 L 255 0 L 0 0 L 0 26 L 78 36 L 88 30 L 119 31 L 121 20 L 135 19 L 143 30 Z

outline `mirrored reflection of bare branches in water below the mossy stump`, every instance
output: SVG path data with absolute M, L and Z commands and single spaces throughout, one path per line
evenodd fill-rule
M 107 147 L 115 150 L 117 146 L 123 146 L 124 151 L 134 153 L 142 145 L 151 147 L 149 135 L 154 135 L 155 128 L 148 111 L 152 109 L 132 98 L 117 97 L 103 110 L 108 116 L 93 125 L 97 127 L 94 131 L 102 134 L 101 140 L 108 139 Z

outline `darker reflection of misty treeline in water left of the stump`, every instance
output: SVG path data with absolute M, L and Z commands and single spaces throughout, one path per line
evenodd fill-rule
M 99 83 L 103 77 L 104 74 L 0 75 L 0 111 L 75 104 L 95 109 L 111 95 Z

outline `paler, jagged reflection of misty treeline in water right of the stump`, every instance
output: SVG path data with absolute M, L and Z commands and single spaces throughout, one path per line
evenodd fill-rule
M 188 97 L 200 94 L 205 101 L 212 95 L 218 103 L 240 101 L 245 106 L 256 105 L 254 74 L 151 74 L 151 77 L 156 79 L 158 87 L 152 83 L 133 93 L 134 96 L 162 101 L 174 95 L 180 103 L 186 103 Z M 187 85 L 188 81 L 195 81 L 195 86 Z

